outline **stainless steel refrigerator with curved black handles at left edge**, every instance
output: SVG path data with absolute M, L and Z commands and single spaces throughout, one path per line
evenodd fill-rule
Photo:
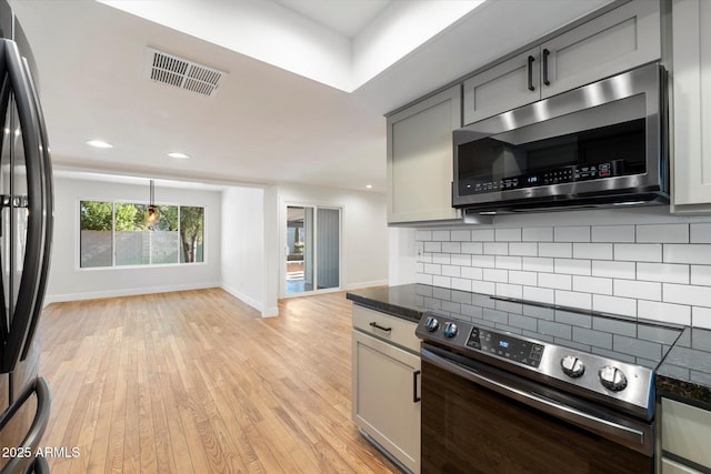
M 34 60 L 0 0 L 0 473 L 48 472 L 50 393 L 34 341 L 52 241 L 52 170 Z

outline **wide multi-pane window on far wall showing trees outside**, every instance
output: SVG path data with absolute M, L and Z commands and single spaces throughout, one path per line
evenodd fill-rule
M 204 208 L 161 205 L 152 229 L 146 204 L 81 201 L 80 266 L 203 262 Z

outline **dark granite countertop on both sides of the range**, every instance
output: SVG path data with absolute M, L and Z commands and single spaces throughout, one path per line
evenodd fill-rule
M 362 306 L 417 322 L 424 311 L 460 313 L 463 306 L 488 296 L 407 284 L 352 291 L 347 297 Z M 657 391 L 661 396 L 711 410 L 711 330 L 684 329 L 658 367 Z

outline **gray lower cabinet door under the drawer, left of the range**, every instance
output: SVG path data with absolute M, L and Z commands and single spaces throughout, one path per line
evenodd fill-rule
M 353 331 L 356 424 L 412 472 L 420 472 L 420 357 Z

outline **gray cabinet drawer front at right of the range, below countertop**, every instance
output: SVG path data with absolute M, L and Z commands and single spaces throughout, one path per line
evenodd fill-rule
M 711 467 L 711 412 L 662 399 L 662 450 Z

